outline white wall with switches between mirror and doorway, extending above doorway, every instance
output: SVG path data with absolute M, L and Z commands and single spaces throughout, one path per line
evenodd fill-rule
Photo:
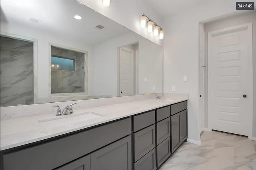
M 254 0 L 255 2 L 255 0 Z M 164 18 L 164 92 L 188 93 L 188 138 L 200 142 L 198 132 L 199 23 L 238 12 L 234 0 L 208 0 Z M 241 11 L 239 11 L 241 12 Z M 183 82 L 188 75 L 188 82 Z

